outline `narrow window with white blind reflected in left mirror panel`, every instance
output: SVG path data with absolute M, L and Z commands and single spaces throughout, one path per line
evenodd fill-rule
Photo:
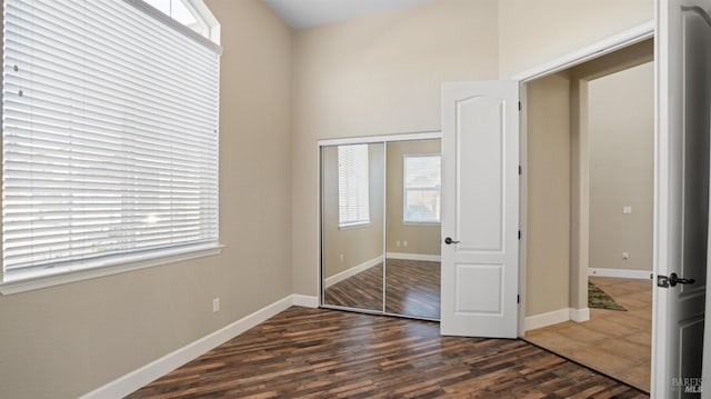
M 338 147 L 338 222 L 370 222 L 368 144 Z

